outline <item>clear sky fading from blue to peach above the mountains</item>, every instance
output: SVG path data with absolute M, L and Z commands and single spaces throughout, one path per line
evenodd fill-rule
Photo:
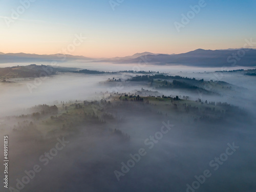
M 241 48 L 256 41 L 255 10 L 255 0 L 0 0 L 0 52 L 100 58 Z

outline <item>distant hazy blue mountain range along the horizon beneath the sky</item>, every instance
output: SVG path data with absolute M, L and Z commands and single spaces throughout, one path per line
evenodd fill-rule
M 37 55 L 25 53 L 0 52 L 0 63 L 7 62 L 50 62 L 50 61 L 74 61 L 86 60 L 88 62 L 111 63 L 142 63 L 148 65 L 184 65 L 195 67 L 222 67 L 222 66 L 256 66 L 255 49 L 228 49 L 228 50 L 204 50 L 197 49 L 181 54 L 155 54 L 151 52 L 136 53 L 132 56 L 94 59 L 74 55 Z

